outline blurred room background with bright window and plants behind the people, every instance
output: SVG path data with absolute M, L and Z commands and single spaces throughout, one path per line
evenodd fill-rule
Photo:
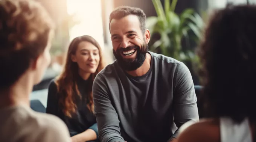
M 151 32 L 150 51 L 174 57 L 184 62 L 200 85 L 200 69 L 196 48 L 207 19 L 215 9 L 234 5 L 256 4 L 256 0 L 37 0 L 47 9 L 56 23 L 51 48 L 52 63 L 41 83 L 34 86 L 31 99 L 39 99 L 44 106 L 50 80 L 62 70 L 70 41 L 76 36 L 90 35 L 102 47 L 105 62 L 114 56 L 109 33 L 109 15 L 118 6 L 143 9 L 146 26 Z

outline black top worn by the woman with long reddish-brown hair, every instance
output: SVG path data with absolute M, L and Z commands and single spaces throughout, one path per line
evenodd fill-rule
M 76 114 L 69 118 L 65 116 L 62 109 L 59 107 L 59 95 L 57 93 L 57 86 L 52 80 L 50 82 L 46 113 L 50 113 L 61 118 L 69 128 L 70 136 L 82 133 L 87 129 L 92 129 L 98 136 L 98 128 L 96 124 L 95 115 L 90 112 L 87 107 L 88 96 L 88 81 L 83 80 L 81 77 L 78 79 L 78 90 L 81 93 L 82 99 L 76 98 L 77 111 Z

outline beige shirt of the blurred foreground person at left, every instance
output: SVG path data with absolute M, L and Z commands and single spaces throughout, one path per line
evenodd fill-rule
M 0 142 L 70 142 L 67 126 L 56 116 L 28 106 L 0 109 Z

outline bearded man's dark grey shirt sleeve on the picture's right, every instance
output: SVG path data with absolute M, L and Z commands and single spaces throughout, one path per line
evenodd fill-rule
M 197 96 L 191 73 L 184 63 L 177 68 L 174 80 L 174 122 L 178 129 L 172 137 L 177 138 L 179 128 L 187 121 L 199 121 Z

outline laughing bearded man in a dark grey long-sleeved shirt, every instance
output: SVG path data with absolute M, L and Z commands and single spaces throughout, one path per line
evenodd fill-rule
M 93 83 L 101 142 L 175 142 L 182 124 L 199 120 L 189 69 L 148 51 L 145 22 L 139 8 L 119 7 L 110 14 L 116 60 Z

